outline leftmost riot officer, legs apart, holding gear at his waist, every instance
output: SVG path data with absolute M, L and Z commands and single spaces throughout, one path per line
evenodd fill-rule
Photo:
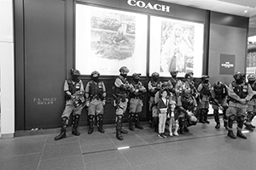
M 62 113 L 62 127 L 61 133 L 55 137 L 55 140 L 66 138 L 67 125 L 71 113 L 73 113 L 73 130 L 72 133 L 79 136 L 77 128 L 79 127 L 79 118 L 84 108 L 84 85 L 82 80 L 79 79 L 80 72 L 78 70 L 71 69 L 71 79 L 65 80 L 64 92 L 66 105 Z M 77 99 L 79 97 L 79 99 Z

